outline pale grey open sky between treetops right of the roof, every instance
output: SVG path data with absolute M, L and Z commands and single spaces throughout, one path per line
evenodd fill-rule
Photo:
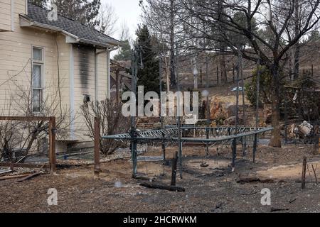
M 112 35 L 114 38 L 119 38 L 119 27 L 122 21 L 127 23 L 130 31 L 130 35 L 134 36 L 137 30 L 137 24 L 140 21 L 140 15 L 142 13 L 139 7 L 139 0 L 101 0 L 101 3 L 105 2 L 111 4 L 114 7 L 114 11 L 118 16 L 117 32 Z

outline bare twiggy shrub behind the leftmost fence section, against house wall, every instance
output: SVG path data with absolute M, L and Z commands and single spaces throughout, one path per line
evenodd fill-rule
M 3 116 L 55 116 L 58 138 L 68 138 L 68 128 L 74 119 L 70 118 L 70 109 L 65 107 L 60 111 L 59 92 L 54 84 L 46 87 L 48 92 L 43 95 L 39 111 L 34 113 L 31 82 L 19 84 L 14 79 L 9 82 L 9 98 L 1 111 Z M 14 152 L 27 157 L 33 151 L 36 140 L 48 136 L 48 130 L 48 121 L 1 121 L 0 159 L 5 157 L 14 162 Z

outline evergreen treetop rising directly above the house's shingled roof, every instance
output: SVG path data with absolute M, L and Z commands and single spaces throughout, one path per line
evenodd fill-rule
M 99 24 L 96 20 L 101 6 L 100 0 L 53 0 L 58 6 L 58 13 L 94 28 Z

